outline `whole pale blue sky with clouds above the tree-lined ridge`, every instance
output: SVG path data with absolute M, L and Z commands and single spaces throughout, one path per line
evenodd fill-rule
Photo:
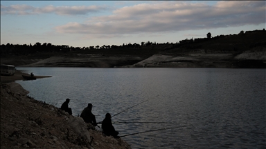
M 1 1 L 1 44 L 176 43 L 265 28 L 266 1 Z

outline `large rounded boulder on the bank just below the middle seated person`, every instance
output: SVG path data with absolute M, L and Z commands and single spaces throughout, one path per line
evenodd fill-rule
M 69 119 L 69 126 L 77 133 L 77 135 L 80 135 L 87 139 L 87 141 L 91 142 L 91 137 L 87 130 L 87 124 L 81 117 L 73 117 Z

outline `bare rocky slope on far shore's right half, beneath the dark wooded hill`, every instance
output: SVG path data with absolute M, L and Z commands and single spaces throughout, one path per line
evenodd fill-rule
M 193 50 L 182 55 L 154 54 L 134 65 L 148 68 L 266 68 L 266 48 L 248 50 L 234 55 L 227 52 Z

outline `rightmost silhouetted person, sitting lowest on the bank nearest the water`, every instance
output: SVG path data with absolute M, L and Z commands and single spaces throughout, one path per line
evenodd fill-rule
M 119 132 L 114 129 L 110 113 L 106 113 L 105 119 L 103 119 L 102 122 L 102 129 L 105 135 L 118 137 L 117 135 L 119 134 Z

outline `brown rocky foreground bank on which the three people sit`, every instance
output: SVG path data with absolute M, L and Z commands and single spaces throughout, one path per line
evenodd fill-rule
M 27 96 L 18 83 L 1 83 L 1 148 L 130 148 L 80 117 Z

